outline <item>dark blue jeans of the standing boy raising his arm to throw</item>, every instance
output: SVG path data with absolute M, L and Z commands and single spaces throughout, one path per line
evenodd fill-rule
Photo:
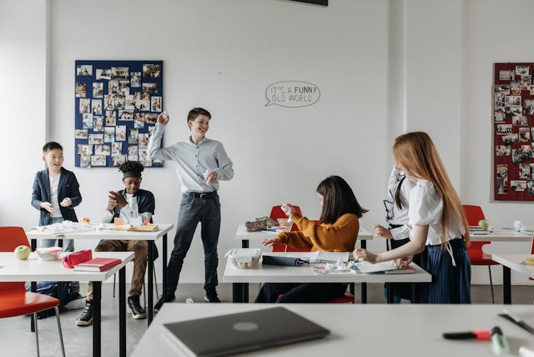
M 204 289 L 215 289 L 217 280 L 217 243 L 219 242 L 219 230 L 221 229 L 221 203 L 219 195 L 215 192 L 209 198 L 202 199 L 192 194 L 184 194 L 178 214 L 176 235 L 174 236 L 174 248 L 172 249 L 169 265 L 167 268 L 167 300 L 174 298 L 174 291 L 178 286 L 178 279 L 184 259 L 191 247 L 194 231 L 201 222 L 201 239 L 204 247 Z

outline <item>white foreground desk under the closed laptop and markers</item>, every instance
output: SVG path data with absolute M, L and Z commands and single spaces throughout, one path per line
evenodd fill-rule
M 242 356 L 487 357 L 493 356 L 491 341 L 452 341 L 441 335 L 453 331 L 491 330 L 493 326 L 501 327 L 516 356 L 520 346 L 534 349 L 533 335 L 499 317 L 497 314 L 502 312 L 502 306 L 498 305 L 283 306 L 328 328 L 330 336 Z M 132 357 L 184 356 L 164 336 L 162 324 L 270 307 L 273 304 L 164 304 L 154 323 L 137 344 Z M 517 305 L 510 310 L 534 324 L 533 306 Z

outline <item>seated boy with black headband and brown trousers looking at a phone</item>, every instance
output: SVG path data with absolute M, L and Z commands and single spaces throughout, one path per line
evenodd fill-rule
M 122 222 L 127 222 L 127 215 L 122 212 L 122 208 L 128 205 L 127 199 L 137 197 L 137 206 L 142 222 L 148 219 L 152 222 L 155 201 L 152 192 L 141 190 L 141 172 L 145 167 L 140 162 L 127 161 L 120 165 L 122 171 L 122 182 L 125 190 L 119 192 L 110 191 L 108 209 L 104 212 L 102 222 L 111 223 L 114 217 L 120 217 Z M 100 241 L 95 248 L 95 252 L 135 252 L 134 269 L 132 274 L 132 286 L 128 292 L 128 307 L 133 319 L 145 319 L 147 313 L 139 303 L 139 296 L 143 281 L 145 281 L 145 270 L 148 262 L 148 242 L 145 240 L 113 240 L 106 239 Z M 87 326 L 93 323 L 93 284 L 88 284 L 87 300 L 85 308 L 76 318 L 76 325 Z

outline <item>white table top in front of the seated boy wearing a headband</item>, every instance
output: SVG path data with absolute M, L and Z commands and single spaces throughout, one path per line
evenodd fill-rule
M 96 225 L 94 227 L 97 227 Z M 66 233 L 61 236 L 54 236 L 46 231 L 40 232 L 37 229 L 30 229 L 26 232 L 28 239 L 139 239 L 157 240 L 172 229 L 170 223 L 157 223 L 157 230 L 153 232 L 128 232 L 126 230 L 100 229 L 88 232 Z

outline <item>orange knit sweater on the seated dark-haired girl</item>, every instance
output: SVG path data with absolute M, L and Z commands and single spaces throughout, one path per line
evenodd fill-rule
M 343 214 L 334 224 L 317 225 L 298 213 L 293 214 L 291 220 L 297 224 L 300 232 L 278 234 L 283 244 L 297 249 L 310 249 L 310 252 L 352 252 L 355 248 L 360 229 L 356 214 Z

